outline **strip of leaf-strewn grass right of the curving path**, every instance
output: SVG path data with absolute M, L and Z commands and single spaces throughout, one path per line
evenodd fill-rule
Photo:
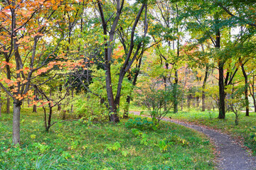
M 253 140 L 251 128 L 255 128 L 256 125 L 256 113 L 250 113 L 250 116 L 245 116 L 245 113 L 240 114 L 239 125 L 235 125 L 235 114 L 226 113 L 225 119 L 218 119 L 218 111 L 205 111 L 198 110 L 191 111 L 179 111 L 178 113 L 170 113 L 167 116 L 178 120 L 186 120 L 198 125 L 206 125 L 210 128 L 221 130 L 228 133 L 231 136 L 242 140 L 244 145 L 252 149 L 254 155 L 256 155 L 256 141 Z

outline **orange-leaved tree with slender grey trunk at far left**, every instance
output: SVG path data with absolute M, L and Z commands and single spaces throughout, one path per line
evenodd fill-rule
M 4 75 L 0 86 L 14 101 L 14 144 L 20 142 L 21 104 L 33 96 L 32 81 L 61 64 L 57 60 L 61 60 L 63 54 L 56 51 L 63 38 L 54 35 L 58 32 L 55 27 L 60 22 L 58 15 L 66 11 L 61 4 L 63 1 L 59 0 L 2 2 L 0 53 L 4 58 L 1 62 Z

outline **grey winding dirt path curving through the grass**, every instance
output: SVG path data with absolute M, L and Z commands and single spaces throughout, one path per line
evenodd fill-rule
M 139 112 L 132 111 L 136 115 Z M 229 135 L 211 130 L 199 125 L 193 125 L 191 123 L 183 123 L 178 120 L 171 120 L 169 118 L 164 118 L 163 120 L 169 121 L 171 123 L 176 123 L 178 125 L 183 125 L 188 128 L 203 132 L 208 135 L 211 140 L 215 143 L 216 149 L 219 152 L 218 168 L 225 170 L 255 170 L 256 169 L 256 158 L 250 156 L 250 154 L 238 145 L 234 140 L 230 138 Z

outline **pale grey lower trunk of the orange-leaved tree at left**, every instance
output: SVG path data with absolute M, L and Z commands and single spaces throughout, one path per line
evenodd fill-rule
M 21 101 L 14 100 L 14 115 L 13 115 L 13 144 L 20 143 L 20 117 L 21 117 Z

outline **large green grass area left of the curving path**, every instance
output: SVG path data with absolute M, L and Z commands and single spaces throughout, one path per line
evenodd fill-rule
M 14 146 L 11 117 L 0 118 L 0 169 L 215 169 L 208 138 L 173 123 L 139 130 L 127 120 L 67 121 L 45 132 L 41 108 L 22 108 L 21 145 Z

